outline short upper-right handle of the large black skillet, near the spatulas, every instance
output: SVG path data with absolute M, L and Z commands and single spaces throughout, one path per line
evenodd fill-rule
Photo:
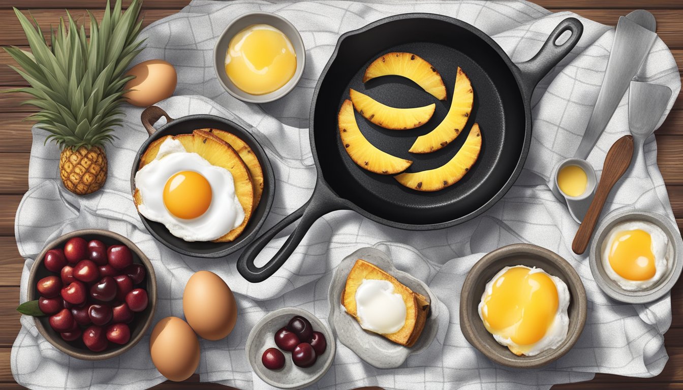
M 563 44 L 556 44 L 557 38 L 566 31 L 570 31 L 572 35 Z M 525 87 L 527 87 L 529 96 L 531 96 L 538 82 L 572 51 L 576 43 L 581 39 L 581 34 L 583 34 L 583 24 L 581 21 L 577 18 L 566 18 L 550 33 L 550 36 L 548 36 L 548 39 L 536 55 L 529 59 L 529 61 L 517 64 L 522 71 L 522 79 L 525 81 Z

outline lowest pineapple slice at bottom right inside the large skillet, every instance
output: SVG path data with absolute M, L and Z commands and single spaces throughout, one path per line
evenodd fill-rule
M 455 184 L 469 171 L 482 150 L 482 132 L 474 124 L 467 139 L 451 161 L 435 169 L 415 173 L 401 173 L 394 176 L 398 182 L 417 191 L 438 191 Z

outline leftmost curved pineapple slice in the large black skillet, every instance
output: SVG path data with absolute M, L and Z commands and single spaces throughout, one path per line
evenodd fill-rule
M 342 137 L 344 149 L 359 167 L 374 173 L 389 175 L 405 171 L 413 163 L 413 161 L 404 160 L 387 152 L 382 152 L 372 145 L 370 141 L 367 141 L 356 123 L 351 100 L 344 100 L 337 120 L 339 135 Z

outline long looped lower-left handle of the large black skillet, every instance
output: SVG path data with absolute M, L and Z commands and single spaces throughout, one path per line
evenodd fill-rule
M 240 258 L 237 260 L 237 270 L 240 275 L 250 281 L 251 283 L 259 283 L 271 277 L 275 271 L 285 264 L 285 261 L 294 253 L 294 249 L 303 240 L 308 229 L 313 225 L 313 222 L 324 214 L 335 210 L 348 210 L 349 207 L 339 199 L 325 184 L 318 181 L 316 189 L 313 190 L 313 195 L 306 204 L 301 206 L 295 212 L 279 221 L 277 225 L 271 227 L 268 232 L 265 232 L 260 237 L 256 238 L 251 244 L 247 245 L 245 251 L 242 252 Z M 284 245 L 275 253 L 272 259 L 264 266 L 256 266 L 254 261 L 257 255 L 266 247 L 268 242 L 273 240 L 275 236 L 285 227 L 292 225 L 294 221 L 301 219 L 298 225 L 294 227 L 294 232 L 285 241 Z

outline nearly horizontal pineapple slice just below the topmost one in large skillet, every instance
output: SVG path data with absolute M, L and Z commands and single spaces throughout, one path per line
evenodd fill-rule
M 365 119 L 382 126 L 383 128 L 390 128 L 392 130 L 406 130 L 408 128 L 416 128 L 426 124 L 428 120 L 434 115 L 436 105 L 425 107 L 415 107 L 410 109 L 397 109 L 382 105 L 382 103 L 374 100 L 370 96 L 361 94 L 355 89 L 350 89 L 351 102 L 356 111 L 363 115 Z

